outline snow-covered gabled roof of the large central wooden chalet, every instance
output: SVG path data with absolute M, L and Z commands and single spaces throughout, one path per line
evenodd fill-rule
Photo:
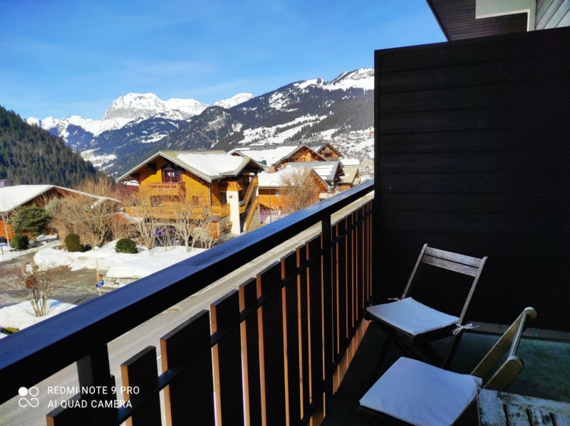
M 182 167 L 190 173 L 199 176 L 207 182 L 217 181 L 225 177 L 238 176 L 247 166 L 254 164 L 261 169 L 247 156 L 234 156 L 226 151 L 158 151 L 155 155 L 142 161 L 138 166 L 117 179 L 118 182 L 128 180 L 129 176 L 142 166 L 152 162 L 158 156 L 170 161 L 172 164 Z

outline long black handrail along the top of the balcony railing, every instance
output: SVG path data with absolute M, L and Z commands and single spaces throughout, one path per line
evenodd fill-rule
M 361 183 L 333 198 L 90 300 L 0 341 L 0 403 L 125 334 L 374 189 Z

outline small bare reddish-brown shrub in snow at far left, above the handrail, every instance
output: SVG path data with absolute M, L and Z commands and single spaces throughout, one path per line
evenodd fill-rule
M 44 316 L 48 313 L 48 298 L 64 284 L 61 275 L 65 268 L 62 266 L 43 271 L 36 263 L 28 262 L 13 268 L 11 273 L 14 279 L 6 280 L 4 284 L 30 302 L 36 316 Z

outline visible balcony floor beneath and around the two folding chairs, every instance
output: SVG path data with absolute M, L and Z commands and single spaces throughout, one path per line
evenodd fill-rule
M 499 331 L 502 326 L 484 325 L 486 326 L 480 327 L 484 332 L 469 331 L 463 334 L 452 363 L 452 371 L 470 373 L 497 341 L 499 336 L 492 334 L 492 331 Z M 524 369 L 506 390 L 570 403 L 570 334 L 529 329 L 524 336 L 517 353 L 524 361 Z M 373 384 L 373 370 L 384 340 L 383 331 L 377 325 L 371 324 L 341 387 L 333 397 L 332 407 L 327 410 L 323 426 L 361 424 L 356 417 L 358 400 Z M 390 345 L 381 373 L 399 356 L 398 348 Z

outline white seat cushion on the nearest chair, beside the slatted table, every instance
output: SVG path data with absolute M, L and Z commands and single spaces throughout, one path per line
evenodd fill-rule
M 482 379 L 399 358 L 361 405 L 421 426 L 449 426 L 477 395 Z

